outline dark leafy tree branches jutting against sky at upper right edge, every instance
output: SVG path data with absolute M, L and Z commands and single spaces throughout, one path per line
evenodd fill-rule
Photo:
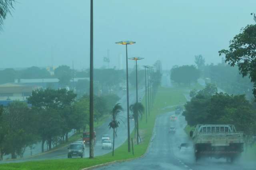
M 246 26 L 230 42 L 229 49 L 220 50 L 219 55 L 224 54 L 231 66 L 238 65 L 243 77 L 249 75 L 256 98 L 256 25 Z

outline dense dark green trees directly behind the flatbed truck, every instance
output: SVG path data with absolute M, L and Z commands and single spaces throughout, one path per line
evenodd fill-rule
M 256 110 L 244 95 L 198 93 L 186 103 L 185 109 L 183 115 L 190 126 L 232 124 L 247 135 L 255 132 Z

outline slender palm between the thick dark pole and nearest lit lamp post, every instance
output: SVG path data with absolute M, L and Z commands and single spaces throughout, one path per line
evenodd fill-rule
M 115 136 L 116 136 L 116 128 L 118 128 L 120 122 L 117 121 L 118 113 L 123 111 L 123 108 L 120 103 L 117 103 L 112 109 L 112 121 L 109 123 L 109 128 L 113 129 L 113 147 L 112 147 L 112 156 L 114 156 L 114 146 L 115 146 Z

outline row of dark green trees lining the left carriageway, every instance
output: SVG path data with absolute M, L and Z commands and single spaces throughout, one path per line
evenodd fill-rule
M 116 95 L 95 97 L 95 124 L 102 125 L 109 117 L 112 106 L 119 100 Z M 0 160 L 4 154 L 11 158 L 23 157 L 25 149 L 42 141 L 42 152 L 77 140 L 80 130 L 89 127 L 89 97 L 76 100 L 76 94 L 67 89 L 36 89 L 28 103 L 13 101 L 0 109 Z M 68 132 L 76 130 L 69 141 Z M 44 148 L 47 143 L 47 148 Z M 14 147 L 15 146 L 15 147 Z M 58 146 L 58 147 L 61 147 Z

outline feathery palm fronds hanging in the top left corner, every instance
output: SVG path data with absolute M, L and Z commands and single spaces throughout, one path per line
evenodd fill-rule
M 10 13 L 10 8 L 13 8 L 15 0 L 0 0 L 0 29 L 2 28 L 3 20 Z

